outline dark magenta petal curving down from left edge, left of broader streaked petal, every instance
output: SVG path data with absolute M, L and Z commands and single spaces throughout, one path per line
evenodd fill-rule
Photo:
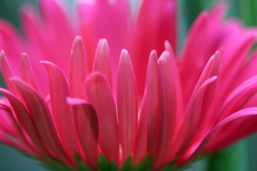
M 26 133 L 29 135 L 32 142 L 34 142 L 36 147 L 39 148 L 41 154 L 49 155 L 49 152 L 44 147 L 44 144 L 42 143 L 41 138 L 39 137 L 39 132 L 36 130 L 36 126 L 34 125 L 33 120 L 31 119 L 31 116 L 29 115 L 24 105 L 22 105 L 21 102 L 8 90 L 0 88 L 0 91 L 6 96 L 6 98 L 11 103 L 11 107 L 14 109 L 16 116 L 19 120 L 19 123 L 24 128 Z

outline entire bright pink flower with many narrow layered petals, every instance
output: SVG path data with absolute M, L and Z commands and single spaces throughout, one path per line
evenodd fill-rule
M 224 4 L 198 16 L 182 53 L 174 0 L 144 0 L 137 17 L 125 0 L 81 3 L 78 21 L 39 5 L 21 11 L 24 36 L 0 24 L 1 142 L 75 167 L 77 152 L 93 169 L 100 153 L 119 166 L 148 153 L 158 169 L 257 130 L 256 28 L 223 22 Z

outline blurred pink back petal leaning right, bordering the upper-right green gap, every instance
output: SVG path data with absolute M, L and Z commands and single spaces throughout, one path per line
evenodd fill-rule
M 200 76 L 202 67 L 208 59 L 203 58 L 203 50 L 206 45 L 206 28 L 208 13 L 202 12 L 188 32 L 186 47 L 183 53 L 183 66 L 181 66 L 181 86 L 186 103 Z M 199 48 L 201 47 L 201 48 Z

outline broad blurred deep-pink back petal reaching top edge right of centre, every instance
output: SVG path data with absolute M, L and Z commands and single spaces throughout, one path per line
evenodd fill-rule
M 160 54 L 164 41 L 172 43 L 176 51 L 176 1 L 143 1 L 131 38 L 129 51 L 136 73 L 139 98 L 143 95 L 149 53 L 156 49 Z

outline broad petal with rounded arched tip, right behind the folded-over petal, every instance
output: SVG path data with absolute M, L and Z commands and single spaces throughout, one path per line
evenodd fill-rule
M 99 118 L 99 145 L 109 160 L 119 161 L 119 130 L 111 88 L 101 73 L 91 73 L 85 82 L 86 96 Z

